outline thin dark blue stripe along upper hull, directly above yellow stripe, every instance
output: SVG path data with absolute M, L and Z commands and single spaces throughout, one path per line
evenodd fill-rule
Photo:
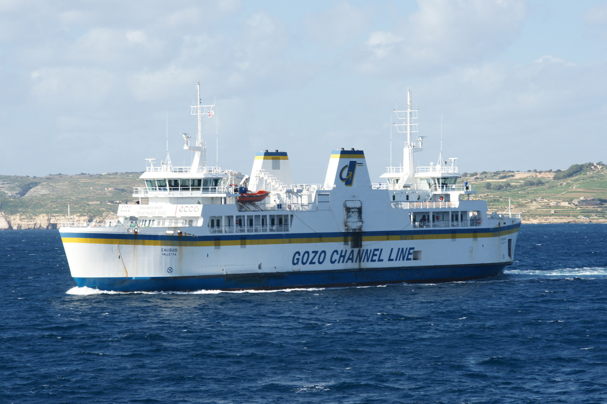
M 377 236 L 422 236 L 426 234 L 472 234 L 472 233 L 501 233 L 504 231 L 515 230 L 520 227 L 520 224 L 493 227 L 493 228 L 440 228 L 440 229 L 415 229 L 415 230 L 396 230 L 396 231 L 364 231 L 362 237 L 377 237 Z M 100 228 L 101 229 L 101 228 Z M 124 240 L 166 240 L 174 241 L 178 237 L 187 237 L 187 240 L 191 240 L 189 237 L 192 236 L 164 236 L 159 234 L 117 234 L 110 232 L 95 232 L 95 233 L 70 233 L 69 230 L 60 230 L 61 237 L 64 238 L 86 238 L 86 239 L 124 239 Z M 214 241 L 215 239 L 220 240 L 240 240 L 240 237 L 246 237 L 248 240 L 266 240 L 266 239 L 306 239 L 314 237 L 325 237 L 327 239 L 334 239 L 338 237 L 350 237 L 352 234 L 347 232 L 324 232 L 324 233 L 217 233 L 211 234 L 210 236 L 193 236 L 195 241 Z

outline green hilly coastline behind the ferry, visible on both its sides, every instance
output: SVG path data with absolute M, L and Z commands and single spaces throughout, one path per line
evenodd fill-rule
M 118 203 L 141 187 L 141 173 L 0 176 L 0 228 L 52 228 L 67 220 L 67 204 L 78 220 L 115 218 Z M 489 211 L 512 211 L 524 222 L 607 222 L 607 165 L 586 163 L 557 171 L 464 173 Z M 593 197 L 605 205 L 579 207 L 574 199 Z M 2 224 L 2 220 L 7 223 Z M 4 226 L 4 227 L 2 227 Z

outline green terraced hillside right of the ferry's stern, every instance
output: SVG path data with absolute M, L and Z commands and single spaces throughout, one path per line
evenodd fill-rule
M 463 180 L 476 187 L 473 199 L 487 200 L 489 211 L 504 211 L 510 198 L 512 211 L 521 213 L 524 222 L 607 221 L 607 205 L 572 204 L 580 197 L 607 203 L 607 165 L 601 162 L 574 164 L 563 171 L 464 174 Z

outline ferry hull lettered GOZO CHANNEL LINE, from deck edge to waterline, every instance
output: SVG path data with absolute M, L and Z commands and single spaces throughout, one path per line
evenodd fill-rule
M 351 243 L 344 232 L 176 236 L 167 235 L 168 228 L 137 235 L 125 228 L 62 228 L 61 236 L 78 286 L 239 290 L 497 276 L 512 263 L 519 227 L 519 220 L 505 218 L 493 228 L 370 231 L 362 233 L 362 248 L 344 245 L 344 238 Z

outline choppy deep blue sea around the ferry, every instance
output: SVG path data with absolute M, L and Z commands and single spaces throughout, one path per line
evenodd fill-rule
M 487 280 L 98 293 L 58 231 L 3 231 L 0 403 L 606 403 L 606 247 L 527 224 Z

